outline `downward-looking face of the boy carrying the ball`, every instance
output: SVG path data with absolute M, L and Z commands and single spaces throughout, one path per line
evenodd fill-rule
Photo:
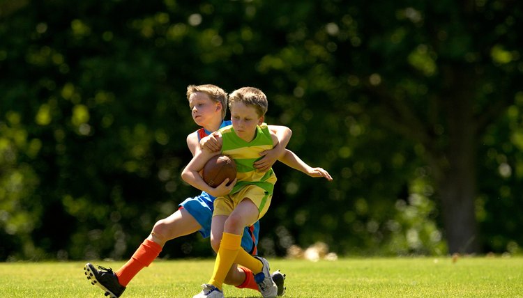
M 264 122 L 264 117 L 258 116 L 255 107 L 243 104 L 243 102 L 233 102 L 231 104 L 231 120 L 234 132 L 243 141 L 252 141 L 255 138 L 256 127 Z

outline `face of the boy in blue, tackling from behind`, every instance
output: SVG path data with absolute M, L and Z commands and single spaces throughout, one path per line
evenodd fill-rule
M 207 126 L 218 118 L 222 118 L 222 109 L 220 102 L 214 102 L 205 93 L 193 93 L 189 97 L 189 107 L 191 109 L 192 119 L 199 126 Z

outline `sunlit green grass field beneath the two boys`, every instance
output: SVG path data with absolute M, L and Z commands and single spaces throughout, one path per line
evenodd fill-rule
M 269 259 L 287 274 L 284 297 L 523 297 L 523 258 Z M 93 262 L 118 269 L 123 262 Z M 0 263 L 0 297 L 105 297 L 84 276 L 84 262 Z M 213 260 L 158 260 L 128 285 L 124 298 L 192 297 Z M 226 286 L 226 297 L 261 297 Z

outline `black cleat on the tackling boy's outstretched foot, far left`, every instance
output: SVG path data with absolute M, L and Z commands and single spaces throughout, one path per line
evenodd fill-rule
M 100 270 L 98 270 L 100 269 Z M 98 285 L 105 291 L 105 296 L 110 298 L 119 298 L 126 287 L 121 285 L 118 281 L 118 276 L 112 272 L 112 269 L 98 266 L 96 269 L 91 263 L 87 263 L 84 267 L 87 279 L 91 281 L 91 285 Z

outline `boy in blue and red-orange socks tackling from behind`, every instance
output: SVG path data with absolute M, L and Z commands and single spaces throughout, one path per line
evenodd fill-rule
M 230 124 L 230 121 L 224 121 L 227 110 L 227 93 L 218 86 L 214 85 L 200 85 L 188 86 L 187 98 L 192 113 L 192 118 L 201 126 L 196 132 L 192 132 L 187 136 L 187 145 L 192 153 L 199 149 L 199 140 L 203 136 L 215 132 L 220 127 Z M 278 135 L 280 143 L 284 147 L 274 148 L 264 152 L 264 158 L 257 163 L 258 168 L 270 168 L 276 159 L 284 152 L 285 145 L 288 143 L 291 131 L 287 127 L 272 126 L 271 130 Z M 302 170 L 301 170 L 302 171 Z M 309 172 L 314 171 L 312 168 Z M 310 174 L 309 174 L 310 175 Z M 311 175 L 313 177 L 320 177 L 321 175 Z M 199 232 L 203 237 L 209 237 L 211 230 L 211 218 L 213 214 L 213 196 L 206 192 L 202 192 L 199 196 L 194 198 L 187 198 L 179 205 L 179 210 L 176 210 L 172 215 L 165 219 L 161 219 L 153 226 L 149 237 L 142 242 L 137 251 L 132 255 L 132 258 L 126 262 L 116 272 L 112 269 L 99 267 L 96 269 L 92 264 L 87 263 L 84 270 L 87 279 L 91 283 L 98 285 L 105 290 L 106 295 L 110 297 L 120 297 L 126 289 L 128 283 L 141 271 L 144 267 L 148 267 L 153 260 L 158 257 L 162 247 L 169 240 L 173 240 L 183 235 L 190 235 Z M 241 246 L 248 253 L 256 255 L 256 245 L 258 238 L 259 223 L 256 222 L 253 226 L 245 228 L 243 233 Z M 282 281 L 282 275 L 279 272 L 274 273 Z M 252 288 L 258 290 L 257 284 L 254 281 L 252 272 L 244 267 L 237 267 L 234 265 L 227 275 L 225 283 L 236 285 L 238 288 Z M 283 294 L 283 288 L 280 290 L 280 295 Z

